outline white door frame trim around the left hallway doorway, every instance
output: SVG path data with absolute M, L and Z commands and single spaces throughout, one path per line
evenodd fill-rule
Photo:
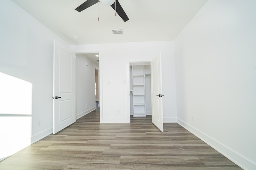
M 102 90 L 102 49 L 89 49 L 83 51 L 74 50 L 75 54 L 85 54 L 85 53 L 99 53 L 99 103 L 100 103 L 100 123 L 103 120 L 103 90 Z

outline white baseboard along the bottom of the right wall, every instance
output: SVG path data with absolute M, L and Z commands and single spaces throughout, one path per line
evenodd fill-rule
M 236 151 L 228 148 L 227 146 L 223 145 L 222 143 L 219 143 L 215 139 L 212 139 L 210 136 L 202 133 L 198 129 L 192 127 L 188 123 L 180 120 L 177 118 L 177 123 L 193 133 L 196 137 L 210 145 L 212 148 L 226 156 L 228 159 L 230 159 L 232 162 L 243 168 L 244 170 L 256 170 L 256 164 L 254 162 L 248 160 L 244 156 L 238 154 Z

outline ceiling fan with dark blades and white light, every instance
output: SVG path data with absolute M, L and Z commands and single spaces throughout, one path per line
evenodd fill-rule
M 86 2 L 82 3 L 80 6 L 78 6 L 75 10 L 78 12 L 81 12 L 85 10 L 86 8 L 89 8 L 90 6 L 98 3 L 99 0 L 87 0 Z M 100 0 L 102 4 L 111 5 L 111 7 L 116 11 L 116 13 L 124 20 L 124 22 L 128 21 L 129 18 L 125 14 L 122 6 L 118 2 L 118 0 Z M 109 4 L 110 3 L 110 4 Z

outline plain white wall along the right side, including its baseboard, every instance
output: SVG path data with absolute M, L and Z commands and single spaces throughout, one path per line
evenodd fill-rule
M 255 9 L 255 0 L 208 0 L 174 41 L 178 123 L 248 170 L 256 169 Z

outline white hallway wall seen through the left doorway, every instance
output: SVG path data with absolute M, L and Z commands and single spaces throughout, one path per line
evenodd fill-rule
M 96 109 L 95 68 L 99 68 L 85 55 L 76 54 L 76 119 Z

